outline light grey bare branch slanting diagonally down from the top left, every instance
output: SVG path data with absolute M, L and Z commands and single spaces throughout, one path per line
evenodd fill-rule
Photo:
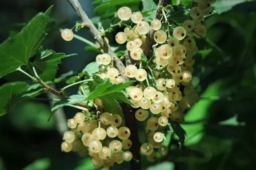
M 75 12 L 77 12 L 77 15 L 81 20 L 83 21 L 83 24 L 85 24 L 85 28 L 89 30 L 91 35 L 94 37 L 94 39 L 99 43 L 101 48 L 105 53 L 108 53 L 111 57 L 113 57 L 115 61 L 115 67 L 120 71 L 121 75 L 125 77 L 126 80 L 128 80 L 128 77 L 125 75 L 125 66 L 123 65 L 122 61 L 115 55 L 115 53 L 112 51 L 110 46 L 107 44 L 107 42 L 104 40 L 104 38 L 101 37 L 100 32 L 97 30 L 97 28 L 94 26 L 93 22 L 89 19 L 85 11 L 83 10 L 81 4 L 78 0 L 68 0 L 68 2 L 71 4 Z

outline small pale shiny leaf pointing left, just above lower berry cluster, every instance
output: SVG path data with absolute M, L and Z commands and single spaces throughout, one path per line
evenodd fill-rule
M 86 96 L 84 96 L 84 95 L 72 95 L 68 98 L 61 99 L 60 101 L 54 103 L 51 111 L 54 112 L 54 111 L 60 109 L 60 107 L 83 102 L 83 101 L 85 101 L 85 99 L 86 99 Z

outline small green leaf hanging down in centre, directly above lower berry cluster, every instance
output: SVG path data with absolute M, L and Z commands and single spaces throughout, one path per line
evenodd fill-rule
M 106 112 L 118 114 L 123 117 L 122 108 L 112 94 L 100 96 L 99 99 L 101 99 Z

